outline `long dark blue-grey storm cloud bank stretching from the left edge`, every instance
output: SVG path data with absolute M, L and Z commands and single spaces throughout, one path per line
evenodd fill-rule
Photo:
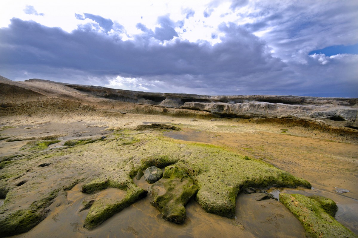
M 170 27 L 165 19 L 161 24 Z M 144 25 L 142 30 L 150 32 Z M 164 28 L 164 27 L 163 27 Z M 0 29 L 0 62 L 83 70 L 95 75 L 226 75 L 282 70 L 285 64 L 265 51 L 265 44 L 245 28 L 221 24 L 222 43 L 188 41 L 161 45 L 149 38 L 121 41 L 82 25 L 71 33 L 32 21 L 12 19 Z M 153 32 L 151 32 L 153 34 Z M 156 35 L 157 32 L 154 32 Z M 163 35 L 161 35 L 163 36 Z M 158 36 L 157 36 L 158 37 Z M 238 40 L 239 39 L 239 40 Z

